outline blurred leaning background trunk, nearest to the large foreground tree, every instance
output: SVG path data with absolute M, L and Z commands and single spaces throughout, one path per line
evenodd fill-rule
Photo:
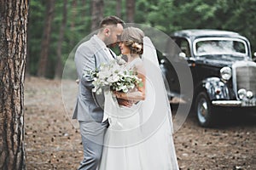
M 40 59 L 38 63 L 38 77 L 46 76 L 46 71 L 47 71 L 46 68 L 47 68 L 48 52 L 49 52 L 49 40 L 50 40 L 52 20 L 54 18 L 54 8 L 55 8 L 55 0 L 48 0 L 47 14 L 46 14 L 46 20 L 44 25 L 44 34 L 43 34 L 43 40 L 41 45 L 41 53 L 40 53 Z

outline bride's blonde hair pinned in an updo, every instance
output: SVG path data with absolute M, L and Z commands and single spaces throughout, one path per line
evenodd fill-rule
M 121 35 L 121 42 L 131 49 L 131 54 L 143 54 L 144 32 L 135 27 L 127 27 Z

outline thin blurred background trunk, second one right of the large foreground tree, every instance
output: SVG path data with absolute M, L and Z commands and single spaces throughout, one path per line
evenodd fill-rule
M 55 78 L 59 79 L 62 76 L 63 71 L 63 64 L 62 64 L 62 42 L 64 38 L 64 32 L 67 24 L 67 0 L 64 0 L 63 3 L 63 15 L 62 15 L 62 22 L 61 22 L 61 28 L 60 28 L 60 35 L 59 35 L 59 41 L 57 46 L 57 63 L 55 67 Z

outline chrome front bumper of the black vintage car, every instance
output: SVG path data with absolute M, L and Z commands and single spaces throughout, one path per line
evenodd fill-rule
M 250 101 L 237 101 L 237 100 L 212 100 L 212 105 L 218 105 L 218 106 L 235 106 L 235 107 L 252 107 L 256 106 L 255 100 Z

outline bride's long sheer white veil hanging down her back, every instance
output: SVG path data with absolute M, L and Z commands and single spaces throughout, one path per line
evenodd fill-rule
M 177 156 L 172 139 L 172 113 L 160 71 L 156 49 L 143 38 L 143 66 L 146 72 L 146 100 L 142 105 L 141 132 L 145 169 L 176 170 Z

